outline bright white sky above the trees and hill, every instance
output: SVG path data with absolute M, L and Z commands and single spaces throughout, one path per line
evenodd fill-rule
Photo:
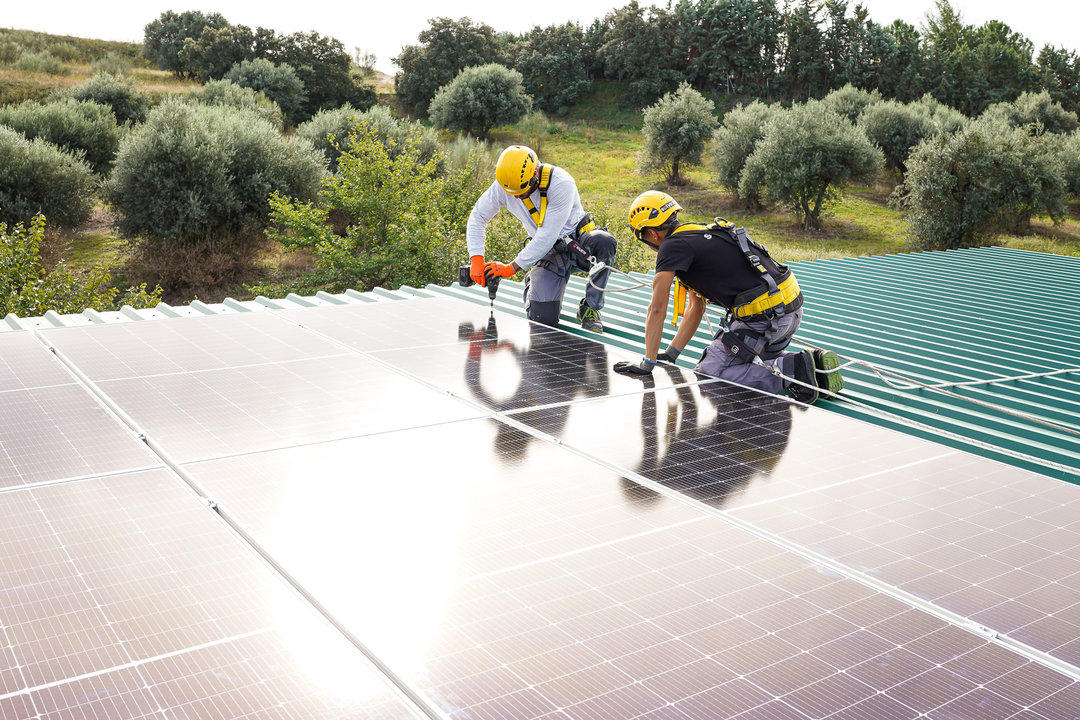
M 161 13 L 201 10 L 218 12 L 233 25 L 262 26 L 279 33 L 314 30 L 337 38 L 350 53 L 355 47 L 374 53 L 376 68 L 393 74 L 390 62 L 402 45 L 415 44 L 428 27 L 428 18 L 471 17 L 487 23 L 496 31 L 524 32 L 535 25 L 542 27 L 576 21 L 588 26 L 630 0 L 543 0 L 543 2 L 492 2 L 491 0 L 367 0 L 309 5 L 306 2 L 266 2 L 265 0 L 111 0 L 106 3 L 85 0 L 28 0 L 5 2 L 0 26 L 39 30 L 100 40 L 143 41 L 143 28 Z M 658 4 L 639 0 L 643 5 Z M 782 5 L 782 1 L 778 2 Z M 863 6 L 877 23 L 888 25 L 904 19 L 921 27 L 933 0 L 863 0 Z M 854 6 L 855 2 L 850 2 Z M 1035 55 L 1043 44 L 1080 49 L 1080 2 L 1076 0 L 953 0 L 963 21 L 982 25 L 998 19 L 1023 32 L 1034 44 Z

